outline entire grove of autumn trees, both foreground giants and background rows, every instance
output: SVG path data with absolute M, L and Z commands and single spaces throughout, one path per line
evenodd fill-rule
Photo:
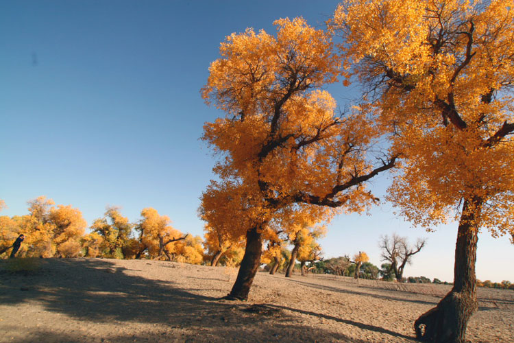
M 24 256 L 239 265 L 232 300 L 247 300 L 262 263 L 404 281 L 425 239 L 382 237 L 381 269 L 365 252 L 319 261 L 323 224 L 376 204 L 367 182 L 391 171 L 400 215 L 428 231 L 458 223 L 452 289 L 417 318 L 417 338 L 465 342 L 476 287 L 496 287 L 476 280 L 478 233 L 514 242 L 514 0 L 344 0 L 326 29 L 274 25 L 227 36 L 201 89 L 223 111 L 202 136 L 219 158 L 199 208 L 206 251 L 155 209 L 131 223 L 109 207 L 86 235 L 78 209 L 45 197 L 0 217 L 0 248 L 25 233 Z M 360 87 L 347 110 L 326 91 L 335 82 Z

